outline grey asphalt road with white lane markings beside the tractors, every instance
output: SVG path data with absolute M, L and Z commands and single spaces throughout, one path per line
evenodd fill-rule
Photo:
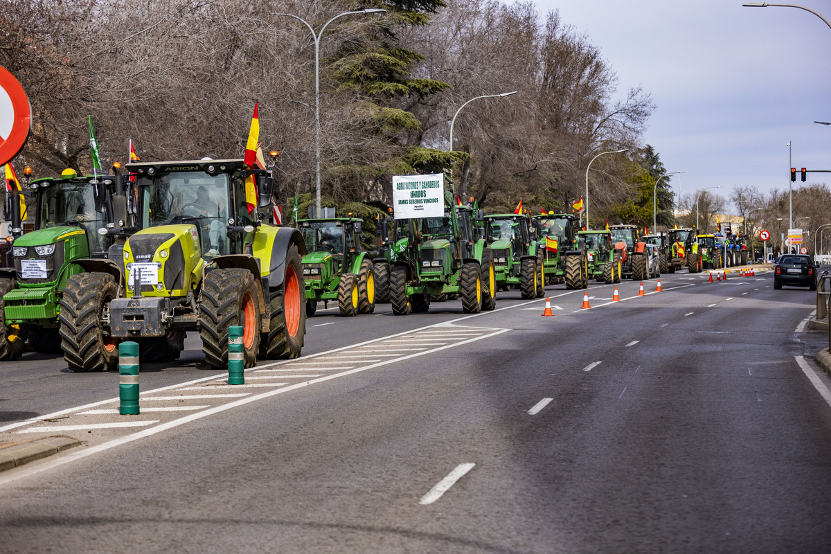
M 112 413 L 115 373 L 24 355 L 0 366 L 0 440 L 85 444 L 0 473 L 0 550 L 831 551 L 815 294 L 661 286 L 592 283 L 588 310 L 549 287 L 553 317 L 519 292 L 479 316 L 318 311 L 303 356 L 243 387 L 191 336 L 142 365 L 137 416 Z

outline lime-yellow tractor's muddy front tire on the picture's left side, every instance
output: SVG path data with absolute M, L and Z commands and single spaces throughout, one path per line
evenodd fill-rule
M 118 365 L 118 341 L 101 329 L 101 315 L 118 296 L 108 273 L 79 273 L 66 281 L 61 297 L 61 348 L 73 371 L 107 371 Z

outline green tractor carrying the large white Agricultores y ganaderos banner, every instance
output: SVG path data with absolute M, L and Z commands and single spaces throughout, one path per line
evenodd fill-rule
M 447 194 L 445 194 L 445 197 Z M 430 309 L 430 298 L 458 294 L 465 313 L 493 310 L 496 275 L 484 238 L 475 237 L 473 209 L 453 205 L 443 217 L 416 218 L 402 223 L 401 253 L 390 267 L 392 313 L 405 316 Z

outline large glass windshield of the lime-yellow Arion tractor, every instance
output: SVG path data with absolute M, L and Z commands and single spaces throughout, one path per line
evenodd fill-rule
M 190 223 L 203 254 L 229 253 L 228 175 L 181 171 L 138 179 L 142 227 Z

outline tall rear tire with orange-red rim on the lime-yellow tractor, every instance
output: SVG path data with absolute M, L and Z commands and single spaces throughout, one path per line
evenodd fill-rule
M 259 355 L 270 360 L 297 358 L 303 348 L 303 337 L 306 336 L 308 303 L 300 254 L 297 253 L 296 246 L 288 248 L 284 267 L 283 284 L 268 289 L 271 321 L 268 333 L 260 336 Z M 314 302 L 314 306 L 317 309 L 317 302 Z

